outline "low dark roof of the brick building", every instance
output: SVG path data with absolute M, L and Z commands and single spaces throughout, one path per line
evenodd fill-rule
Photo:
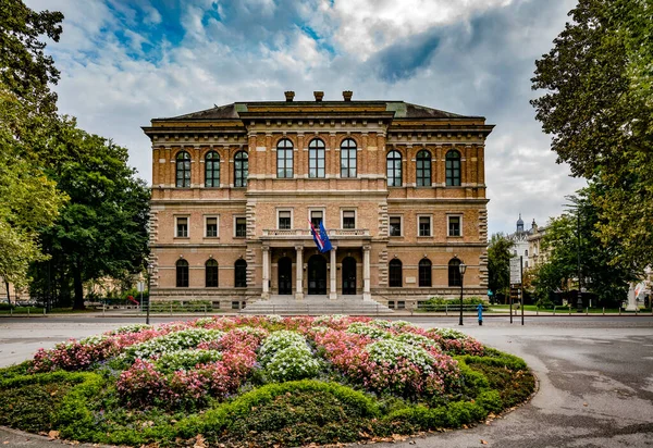
M 237 120 L 241 117 L 241 113 L 250 112 L 251 108 L 259 110 L 264 107 L 275 110 L 283 110 L 284 108 L 310 108 L 313 111 L 315 108 L 323 108 L 324 110 L 337 108 L 338 110 L 344 111 L 348 107 L 360 110 L 366 105 L 369 105 L 370 109 L 377 111 L 382 111 L 384 109 L 384 112 L 394 112 L 395 119 L 478 119 L 478 116 L 459 115 L 456 113 L 441 111 L 439 109 L 427 108 L 424 105 L 412 104 L 404 101 L 256 101 L 214 105 L 211 109 L 206 109 L 202 111 L 156 120 Z

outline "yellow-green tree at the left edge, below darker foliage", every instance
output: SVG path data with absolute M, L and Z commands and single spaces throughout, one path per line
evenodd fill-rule
M 0 84 L 0 277 L 24 286 L 29 263 L 44 260 L 38 231 L 51 225 L 65 202 L 57 184 L 32 163 L 34 145 L 46 145 L 40 135 L 20 138 L 38 119 L 28 103 Z M 9 299 L 9 298 L 8 298 Z

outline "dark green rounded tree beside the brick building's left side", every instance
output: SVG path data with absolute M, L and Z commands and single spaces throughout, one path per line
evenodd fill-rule
M 54 225 L 41 233 L 46 250 L 58 261 L 56 276 L 71 281 L 75 309 L 84 308 L 83 283 L 140 272 L 148 253 L 149 189 L 127 165 L 127 150 L 59 122 L 56 150 L 39 154 L 50 178 L 70 196 Z M 34 288 L 44 287 L 45 265 Z M 65 285 L 61 285 L 65 289 Z

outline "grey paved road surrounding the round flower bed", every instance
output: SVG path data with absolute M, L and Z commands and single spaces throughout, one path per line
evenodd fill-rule
M 155 323 L 170 319 L 155 318 Z M 424 327 L 457 327 L 454 318 L 407 319 Z M 132 319 L 0 320 L 0 365 L 30 357 L 69 337 L 100 333 Z M 491 424 L 379 447 L 653 447 L 653 318 L 547 316 L 509 324 L 492 318 L 463 331 L 523 358 L 540 381 L 527 405 Z M 27 439 L 28 438 L 28 439 Z M 58 441 L 0 431 L 7 446 Z

